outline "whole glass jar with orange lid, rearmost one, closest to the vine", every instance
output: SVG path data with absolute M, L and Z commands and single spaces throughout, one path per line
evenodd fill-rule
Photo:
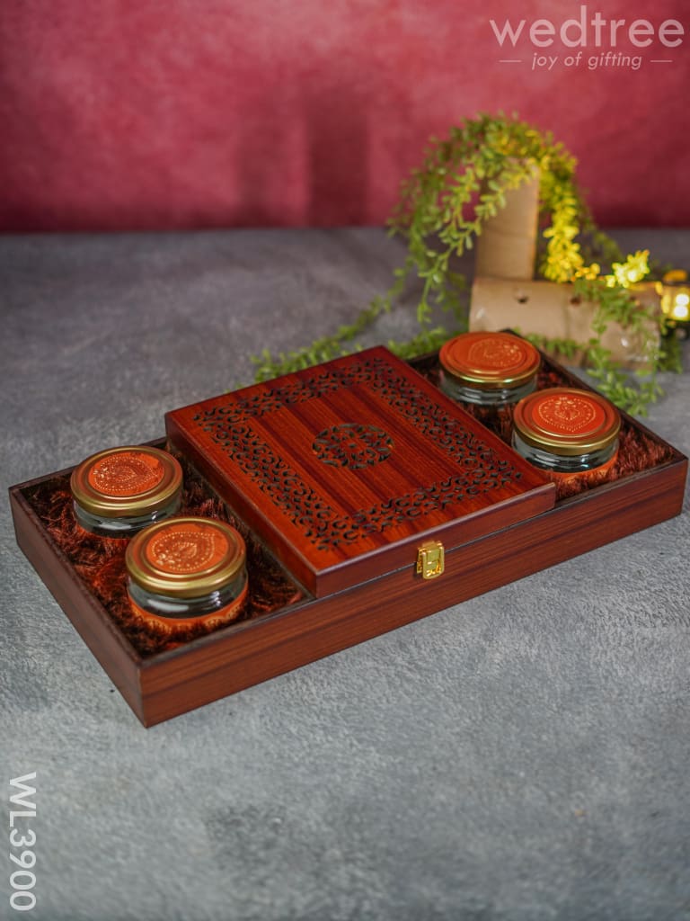
M 464 332 L 441 346 L 441 389 L 459 402 L 505 406 L 535 390 L 541 356 L 512 332 Z

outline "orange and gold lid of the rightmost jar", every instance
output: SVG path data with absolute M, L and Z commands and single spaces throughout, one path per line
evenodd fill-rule
M 573 387 L 553 387 L 523 397 L 512 422 L 528 445 L 566 457 L 607 448 L 620 430 L 613 403 Z

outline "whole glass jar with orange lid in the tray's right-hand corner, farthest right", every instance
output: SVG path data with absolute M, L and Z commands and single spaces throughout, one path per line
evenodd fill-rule
M 552 479 L 601 482 L 618 453 L 620 415 L 598 393 L 573 387 L 536 391 L 513 414 L 512 447 Z

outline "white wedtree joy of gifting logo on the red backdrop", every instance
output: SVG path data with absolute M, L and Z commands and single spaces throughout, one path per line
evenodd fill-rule
M 580 7 L 580 17 L 570 17 L 562 22 L 552 19 L 535 19 L 529 23 L 526 19 L 506 19 L 500 25 L 495 19 L 489 19 L 494 37 L 501 49 L 515 52 L 537 49 L 532 52 L 532 69 L 547 67 L 551 70 L 556 64 L 579 66 L 584 51 L 602 49 L 597 54 L 590 54 L 587 66 L 594 70 L 597 66 L 627 66 L 637 70 L 642 63 L 642 55 L 618 51 L 619 44 L 627 49 L 649 49 L 652 45 L 661 46 L 663 58 L 650 58 L 651 64 L 672 64 L 667 49 L 678 48 L 684 41 L 685 28 L 678 19 L 664 19 L 658 26 L 649 19 L 607 19 L 597 10 L 590 13 L 587 6 Z M 565 49 L 579 49 L 574 54 L 540 54 L 541 49 L 551 51 L 559 42 Z M 525 48 L 526 46 L 526 48 Z M 502 64 L 522 64 L 523 58 L 502 58 Z

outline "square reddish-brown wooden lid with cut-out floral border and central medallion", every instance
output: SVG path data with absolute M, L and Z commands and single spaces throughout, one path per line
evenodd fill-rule
M 314 595 L 552 507 L 553 484 L 377 346 L 166 415 L 167 437 Z

